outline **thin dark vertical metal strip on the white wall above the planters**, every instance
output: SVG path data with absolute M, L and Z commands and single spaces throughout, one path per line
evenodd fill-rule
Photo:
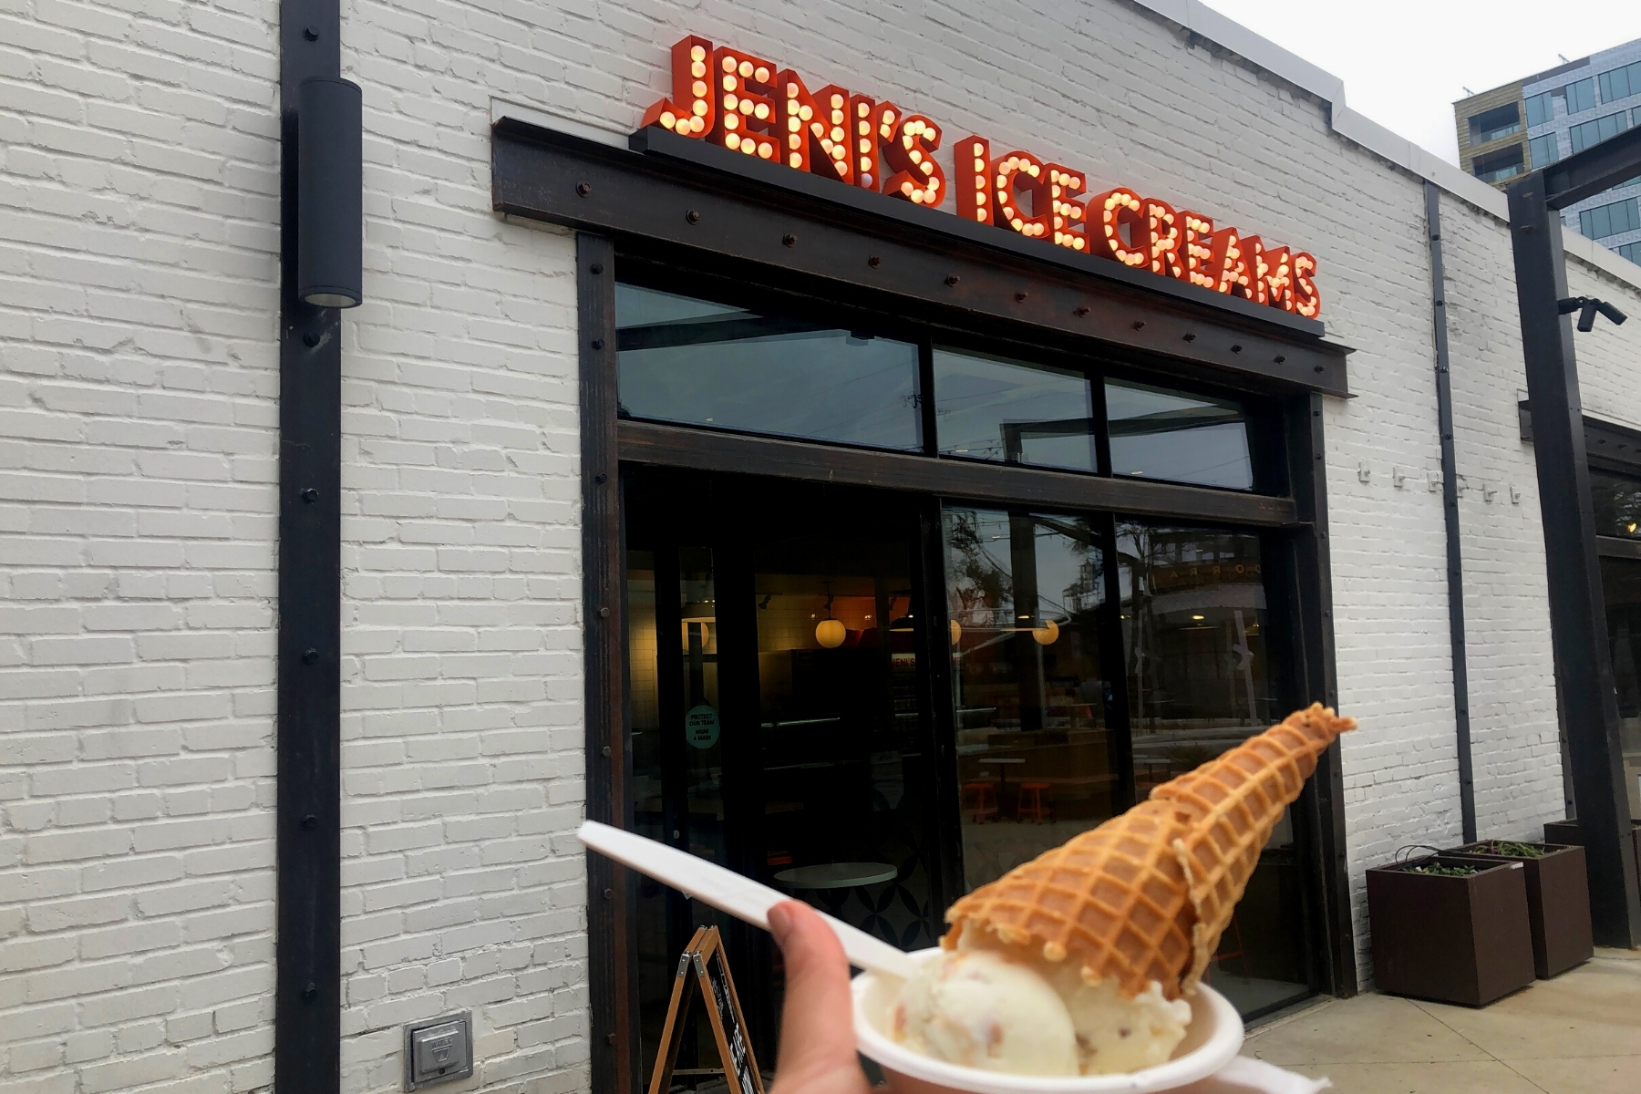
M 1452 640 L 1452 713 L 1459 746 L 1459 823 L 1475 841 L 1475 769 L 1470 763 L 1470 671 L 1464 638 L 1464 551 L 1459 540 L 1459 461 L 1452 438 L 1452 377 L 1447 354 L 1447 271 L 1441 254 L 1441 187 L 1424 182 L 1424 226 L 1431 246 L 1431 315 L 1436 340 L 1436 431 L 1441 436 L 1441 508 L 1447 522 L 1447 635 Z

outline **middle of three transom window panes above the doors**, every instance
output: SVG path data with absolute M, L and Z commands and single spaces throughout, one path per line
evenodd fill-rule
M 945 454 L 1098 471 L 1081 372 L 935 349 L 934 392 Z

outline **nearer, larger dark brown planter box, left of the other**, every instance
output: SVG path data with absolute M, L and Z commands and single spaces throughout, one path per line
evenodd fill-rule
M 1415 874 L 1413 864 L 1483 866 L 1469 877 Z M 1483 1007 L 1533 982 L 1526 871 L 1428 856 L 1367 871 L 1378 989 Z

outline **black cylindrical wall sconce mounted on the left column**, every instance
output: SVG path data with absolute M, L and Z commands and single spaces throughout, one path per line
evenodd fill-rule
M 297 102 L 297 295 L 320 308 L 364 299 L 359 85 L 313 77 Z

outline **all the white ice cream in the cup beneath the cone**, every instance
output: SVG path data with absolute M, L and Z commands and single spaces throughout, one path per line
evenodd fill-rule
M 1155 981 L 1127 999 L 1072 963 L 1021 960 L 971 941 L 906 982 L 889 1035 L 934 1060 L 1011 1074 L 1113 1074 L 1163 1063 L 1191 1020 Z

